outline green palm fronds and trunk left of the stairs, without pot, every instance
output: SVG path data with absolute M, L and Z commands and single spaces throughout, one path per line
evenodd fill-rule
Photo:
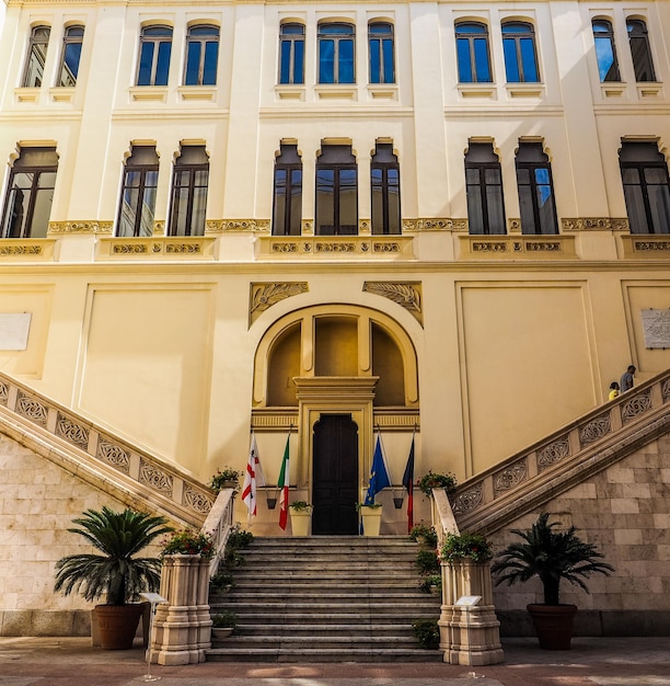
M 102 554 L 61 558 L 56 563 L 55 591 L 65 595 L 77 591 L 86 601 L 105 595 L 107 605 L 125 605 L 142 591 L 158 591 L 161 561 L 134 556 L 158 536 L 172 531 L 165 517 L 103 506 L 100 512 L 86 510 L 72 523 L 80 528 L 68 531 L 83 536 Z

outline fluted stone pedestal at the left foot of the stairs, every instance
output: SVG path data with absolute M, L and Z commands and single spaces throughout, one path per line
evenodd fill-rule
M 199 554 L 165 556 L 160 594 L 168 603 L 155 610 L 151 661 L 164 665 L 205 662 L 205 651 L 211 645 L 209 561 Z

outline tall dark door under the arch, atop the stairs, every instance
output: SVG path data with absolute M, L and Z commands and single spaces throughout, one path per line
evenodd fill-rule
M 358 426 L 350 414 L 321 415 L 312 460 L 312 534 L 358 534 Z

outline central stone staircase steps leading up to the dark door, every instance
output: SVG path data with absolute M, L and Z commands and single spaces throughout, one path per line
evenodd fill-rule
M 254 539 L 232 591 L 210 598 L 212 615 L 232 609 L 239 624 L 207 660 L 440 662 L 412 633 L 441 602 L 418 588 L 418 550 L 401 536 Z

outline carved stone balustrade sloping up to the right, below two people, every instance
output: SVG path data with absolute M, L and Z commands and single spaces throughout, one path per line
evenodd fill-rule
M 460 484 L 459 528 L 498 530 L 668 431 L 670 369 Z

